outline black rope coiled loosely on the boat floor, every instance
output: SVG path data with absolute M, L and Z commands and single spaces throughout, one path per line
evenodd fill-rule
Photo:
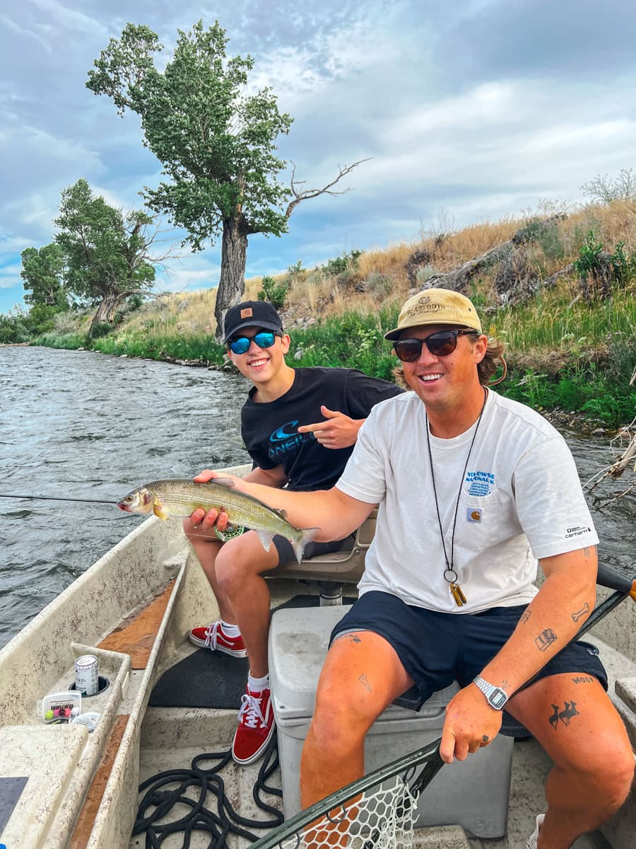
M 202 762 L 216 761 L 209 768 L 199 766 Z M 226 797 L 225 782 L 220 771 L 232 761 L 232 751 L 210 752 L 197 755 L 190 769 L 169 769 L 157 773 L 139 785 L 139 792 L 148 792 L 143 796 L 137 810 L 137 819 L 132 829 L 132 836 L 146 832 L 146 849 L 160 849 L 161 844 L 169 835 L 183 833 L 182 849 L 190 846 L 193 831 L 207 832 L 211 835 L 208 849 L 228 849 L 228 835 L 245 837 L 251 843 L 259 838 L 248 829 L 272 829 L 283 821 L 281 811 L 268 804 L 261 794 L 281 796 L 282 790 L 270 787 L 265 782 L 278 768 L 278 747 L 276 731 L 265 750 L 259 774 L 252 789 L 256 805 L 272 818 L 267 820 L 248 819 L 239 816 Z M 170 784 L 178 784 L 172 790 L 165 790 Z M 198 800 L 186 796 L 190 787 L 198 787 Z M 209 796 L 215 796 L 215 801 Z M 206 807 L 206 802 L 209 807 Z M 185 805 L 191 810 L 185 816 L 171 822 L 160 823 L 173 807 Z M 153 810 L 150 810 L 152 809 Z

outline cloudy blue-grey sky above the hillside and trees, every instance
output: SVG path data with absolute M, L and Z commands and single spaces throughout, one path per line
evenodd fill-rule
M 353 248 L 413 242 L 583 200 L 636 166 L 633 0 L 22 0 L 0 11 L 0 312 L 21 302 L 20 251 L 53 240 L 60 192 L 85 177 L 124 209 L 159 183 L 137 115 L 85 87 L 127 22 L 159 35 L 219 20 L 228 54 L 293 115 L 280 153 L 307 186 L 370 158 L 348 194 L 298 206 L 281 239 L 250 237 L 248 276 Z M 179 241 L 179 234 L 172 237 Z M 170 262 L 161 287 L 214 286 L 217 246 Z

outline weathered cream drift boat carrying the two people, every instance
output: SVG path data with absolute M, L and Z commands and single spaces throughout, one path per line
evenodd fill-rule
M 232 473 L 247 471 L 228 469 Z M 349 584 L 371 541 L 374 520 L 359 532 L 354 551 L 292 564 L 271 577 L 273 604 L 298 592 L 318 594 L 317 580 Z M 298 578 L 314 582 L 298 589 Z M 600 599 L 610 593 L 600 588 Z M 36 616 L 0 652 L 0 844 L 7 849 L 128 849 L 139 803 L 138 785 L 162 770 L 189 767 L 202 752 L 225 751 L 237 710 L 150 707 L 155 683 L 196 649 L 187 640 L 193 623 L 213 621 L 214 595 L 178 522 L 150 518 L 99 559 Z M 610 692 L 636 749 L 636 605 L 620 604 L 588 635 L 611 677 Z M 75 660 L 98 658 L 108 686 L 85 699 L 82 711 L 99 714 L 90 733 L 79 724 L 45 724 L 43 694 L 69 689 Z M 415 748 L 415 746 L 414 746 Z M 427 849 L 522 849 L 544 808 L 550 762 L 533 741 L 516 742 L 507 837 L 482 840 L 458 825 L 416 830 Z M 228 764 L 226 795 L 247 818 L 264 818 L 252 788 L 259 763 Z M 276 774 L 270 784 L 281 785 Z M 426 796 L 426 790 L 423 796 Z M 196 796 L 196 794 L 195 794 Z M 274 797 L 272 804 L 282 809 Z M 215 805 L 215 800 L 211 803 Z M 458 801 L 458 804 L 460 801 Z M 181 817 L 175 811 L 170 818 Z M 585 835 L 577 849 L 636 849 L 636 790 L 601 832 Z M 182 846 L 174 834 L 165 849 Z M 228 837 L 243 849 L 249 841 Z M 209 846 L 193 832 L 192 849 Z

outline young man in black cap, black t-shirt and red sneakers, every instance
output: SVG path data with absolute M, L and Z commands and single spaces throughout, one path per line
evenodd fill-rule
M 373 405 L 402 392 L 355 369 L 291 368 L 285 362 L 289 336 L 265 301 L 245 301 L 228 310 L 225 340 L 232 363 L 254 384 L 241 413 L 243 441 L 254 461 L 247 481 L 290 490 L 332 486 Z M 228 538 L 227 532 L 202 531 L 198 514 L 193 517 L 184 529 L 214 589 L 220 620 L 192 628 L 190 639 L 249 657 L 232 756 L 251 763 L 265 751 L 274 730 L 267 666 L 270 593 L 261 574 L 296 558 L 283 537 L 275 537 L 265 551 L 254 531 Z M 349 531 L 343 535 L 348 536 Z M 304 556 L 326 554 L 348 542 L 309 543 Z

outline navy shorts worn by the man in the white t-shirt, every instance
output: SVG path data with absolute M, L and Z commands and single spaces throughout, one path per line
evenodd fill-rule
M 360 596 L 332 631 L 331 642 L 343 632 L 372 631 L 397 652 L 416 683 L 421 701 L 454 681 L 466 687 L 510 638 L 526 604 L 494 607 L 483 613 L 438 613 L 404 604 L 397 596 L 373 590 Z M 579 641 L 548 661 L 538 678 L 577 672 L 594 675 L 607 689 L 607 674 L 598 649 Z

